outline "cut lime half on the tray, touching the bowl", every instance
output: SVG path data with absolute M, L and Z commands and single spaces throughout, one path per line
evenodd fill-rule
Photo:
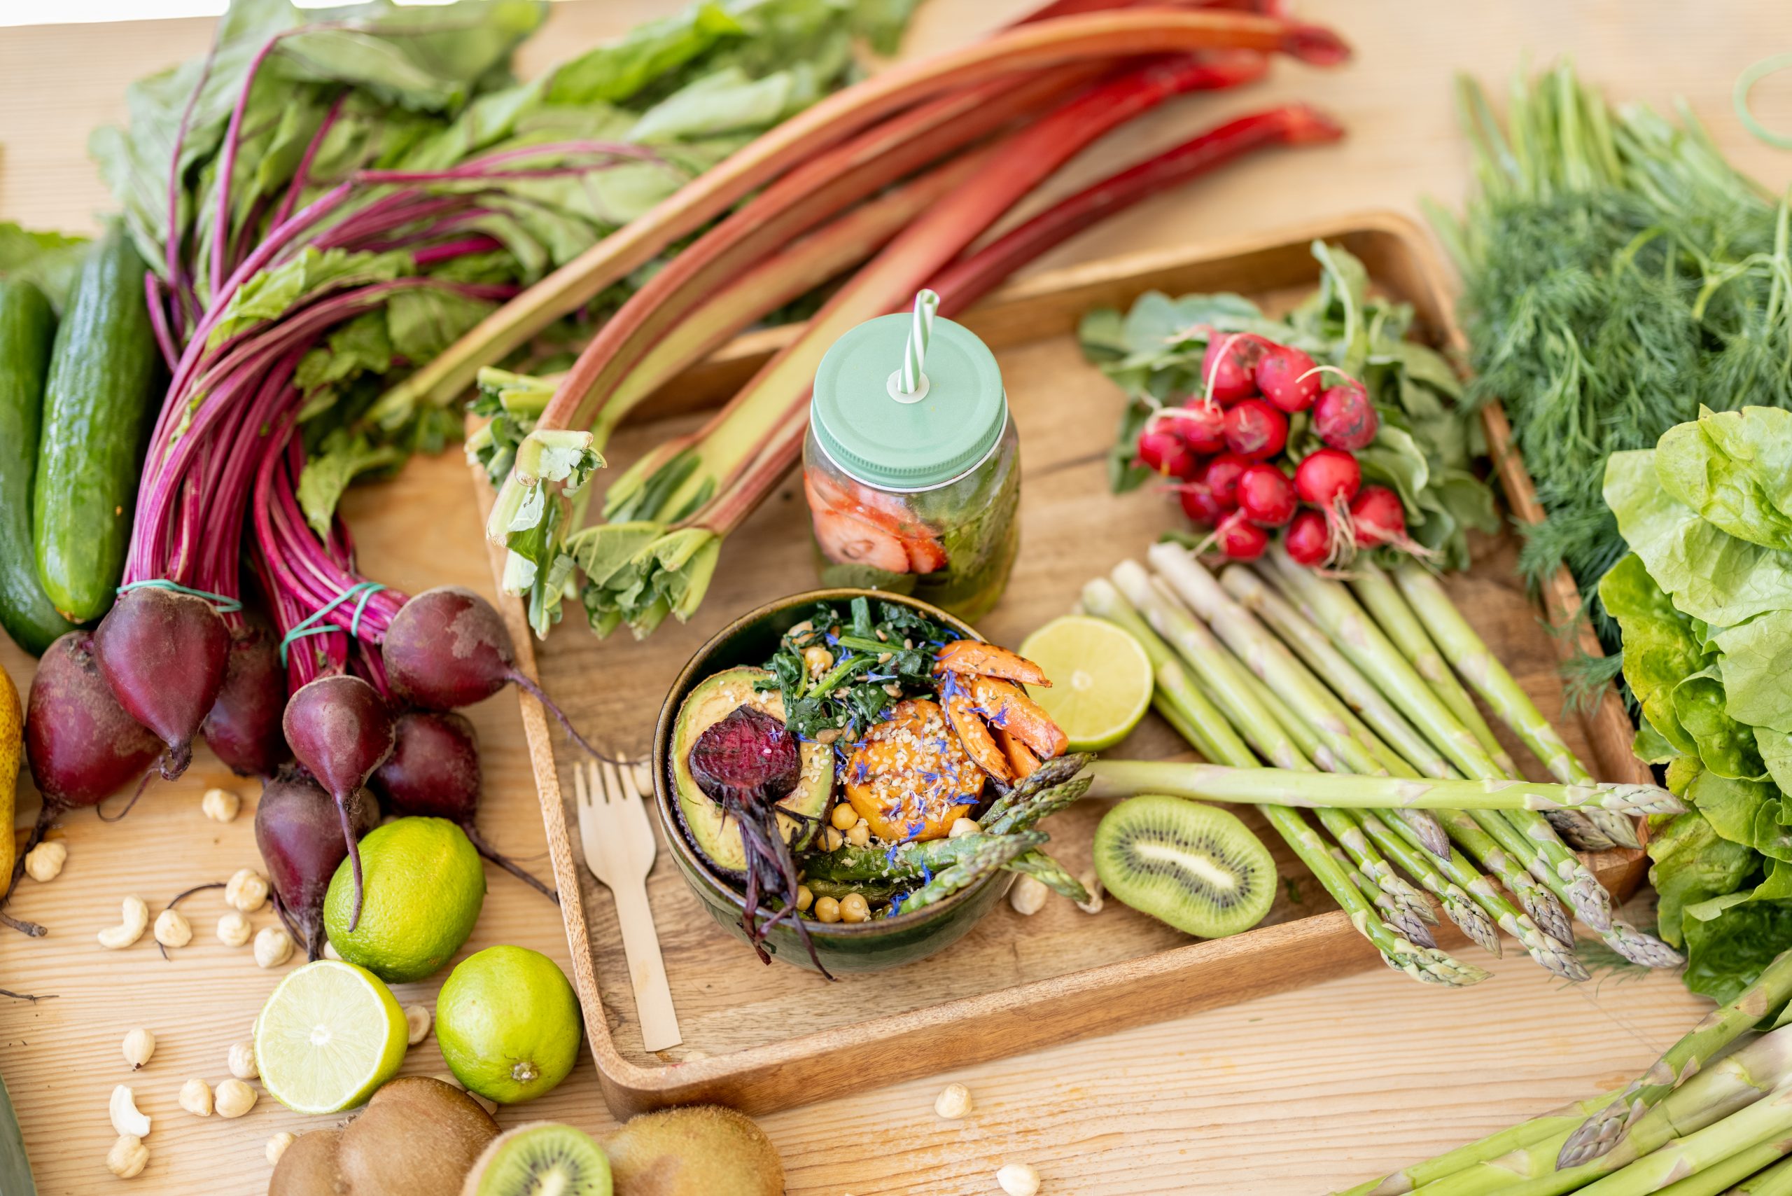
M 1054 619 L 1027 637 L 1020 654 L 1045 669 L 1052 687 L 1027 692 L 1045 706 L 1072 751 L 1113 748 L 1150 708 L 1150 660 L 1131 635 L 1088 615 Z

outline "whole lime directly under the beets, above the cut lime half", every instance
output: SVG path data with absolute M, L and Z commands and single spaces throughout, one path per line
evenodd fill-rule
M 387 984 L 421 981 L 473 932 L 486 904 L 486 868 L 466 832 L 446 818 L 400 818 L 360 841 L 364 897 L 355 913 L 353 861 L 324 895 L 324 932 L 349 963 Z

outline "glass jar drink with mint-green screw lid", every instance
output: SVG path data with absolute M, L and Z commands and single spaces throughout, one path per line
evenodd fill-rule
M 823 585 L 989 613 L 1020 549 L 1020 434 L 995 353 L 935 319 L 921 386 L 900 387 L 909 316 L 833 342 L 815 371 L 803 495 Z

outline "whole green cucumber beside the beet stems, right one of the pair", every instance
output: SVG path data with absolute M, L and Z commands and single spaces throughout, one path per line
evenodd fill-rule
M 124 228 L 109 228 L 50 351 L 30 525 L 43 592 L 75 622 L 111 608 L 131 543 L 158 357 L 143 273 Z

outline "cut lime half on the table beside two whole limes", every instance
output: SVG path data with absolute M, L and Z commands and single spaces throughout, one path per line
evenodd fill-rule
M 405 1062 L 405 1011 L 380 977 L 339 959 L 287 974 L 254 1020 L 262 1087 L 296 1114 L 366 1105 Z

